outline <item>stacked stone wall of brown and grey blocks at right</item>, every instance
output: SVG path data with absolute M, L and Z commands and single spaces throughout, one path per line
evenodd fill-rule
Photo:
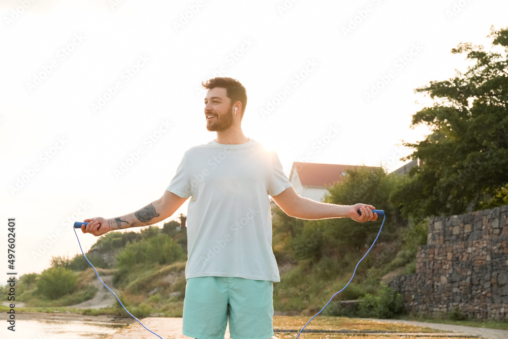
M 416 273 L 390 287 L 408 312 L 508 319 L 508 206 L 429 222 L 427 245 L 418 249 Z

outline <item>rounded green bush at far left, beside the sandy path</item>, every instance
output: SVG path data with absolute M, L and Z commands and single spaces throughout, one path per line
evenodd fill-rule
M 43 296 L 55 300 L 73 292 L 77 287 L 78 274 L 64 267 L 51 267 L 41 273 L 37 290 Z

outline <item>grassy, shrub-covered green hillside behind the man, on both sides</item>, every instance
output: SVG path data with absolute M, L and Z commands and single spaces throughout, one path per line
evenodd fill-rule
M 389 202 L 397 180 L 380 168 L 359 169 L 348 172 L 345 180 L 329 189 L 326 202 L 345 205 L 369 201 L 374 206 L 383 206 L 386 212 L 377 243 L 336 301 L 367 298 L 368 305 L 372 305 L 379 293 L 394 299 L 396 296 L 390 291 L 382 290 L 382 278 L 396 269 L 401 273 L 414 272 L 417 246 L 426 242 L 427 224 L 425 220 L 400 222 L 398 210 Z M 302 220 L 289 217 L 277 206 L 272 208 L 272 246 L 281 275 L 281 282 L 274 285 L 275 311 L 300 314 L 321 309 L 350 280 L 380 225 L 381 221 L 359 224 L 347 218 Z M 105 234 L 92 245 L 87 257 L 100 274 L 110 276 L 107 278 L 111 279 L 110 287 L 118 289 L 118 296 L 131 312 L 181 316 L 186 246 L 185 228 L 182 230 L 178 222 L 172 221 L 163 228 L 151 226 L 139 233 Z M 41 274 L 21 277 L 17 299 L 26 307 L 72 309 L 73 305 L 79 305 L 76 308 L 87 305 L 97 309 L 99 305 L 90 299 L 99 302 L 104 297 L 103 289 L 82 255 L 57 257 L 53 258 L 52 267 Z M 93 311 L 123 312 L 117 303 L 109 309 Z M 353 315 L 339 309 L 336 302 L 327 308 L 326 314 Z

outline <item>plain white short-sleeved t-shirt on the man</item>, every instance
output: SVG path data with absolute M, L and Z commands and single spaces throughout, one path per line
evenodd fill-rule
M 276 153 L 255 140 L 188 149 L 167 188 L 190 197 L 185 278 L 280 281 L 268 195 L 290 187 Z

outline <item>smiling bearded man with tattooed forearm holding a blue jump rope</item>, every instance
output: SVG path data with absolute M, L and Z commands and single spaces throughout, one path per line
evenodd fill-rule
M 280 281 L 272 252 L 269 195 L 301 219 L 352 218 L 375 221 L 374 206 L 340 206 L 298 196 L 275 152 L 246 137 L 241 121 L 245 87 L 232 78 L 213 78 L 203 87 L 208 144 L 188 149 L 163 196 L 119 218 L 86 219 L 84 233 L 102 235 L 169 218 L 190 198 L 187 213 L 187 285 L 183 334 L 224 338 L 229 318 L 234 339 L 274 336 L 273 282 Z M 360 209 L 361 215 L 357 210 Z

